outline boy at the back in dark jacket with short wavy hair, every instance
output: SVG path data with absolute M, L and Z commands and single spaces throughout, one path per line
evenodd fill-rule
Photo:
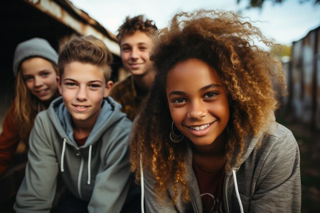
M 131 73 L 116 84 L 110 96 L 122 105 L 122 111 L 133 121 L 154 79 L 150 65 L 152 35 L 157 30 L 153 21 L 138 15 L 126 18 L 119 28 L 118 42 L 124 67 Z

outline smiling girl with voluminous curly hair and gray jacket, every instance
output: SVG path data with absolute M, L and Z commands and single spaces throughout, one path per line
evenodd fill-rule
M 158 31 L 131 145 L 147 212 L 300 212 L 298 145 L 275 121 L 284 76 L 257 40 L 273 45 L 233 12 Z

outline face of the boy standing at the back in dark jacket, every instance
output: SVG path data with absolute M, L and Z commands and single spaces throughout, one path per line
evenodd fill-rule
M 121 59 L 133 76 L 145 75 L 150 71 L 151 47 L 152 39 L 142 31 L 126 34 L 121 38 Z

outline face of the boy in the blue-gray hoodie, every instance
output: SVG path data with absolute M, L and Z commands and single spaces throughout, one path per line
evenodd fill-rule
M 71 62 L 64 66 L 58 88 L 76 126 L 94 126 L 112 85 L 112 81 L 106 83 L 103 69 L 97 65 Z

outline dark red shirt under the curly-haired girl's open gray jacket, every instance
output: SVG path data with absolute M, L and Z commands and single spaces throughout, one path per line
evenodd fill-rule
M 203 173 L 193 162 L 193 171 L 197 177 L 203 213 L 223 213 L 224 169 L 214 173 Z

